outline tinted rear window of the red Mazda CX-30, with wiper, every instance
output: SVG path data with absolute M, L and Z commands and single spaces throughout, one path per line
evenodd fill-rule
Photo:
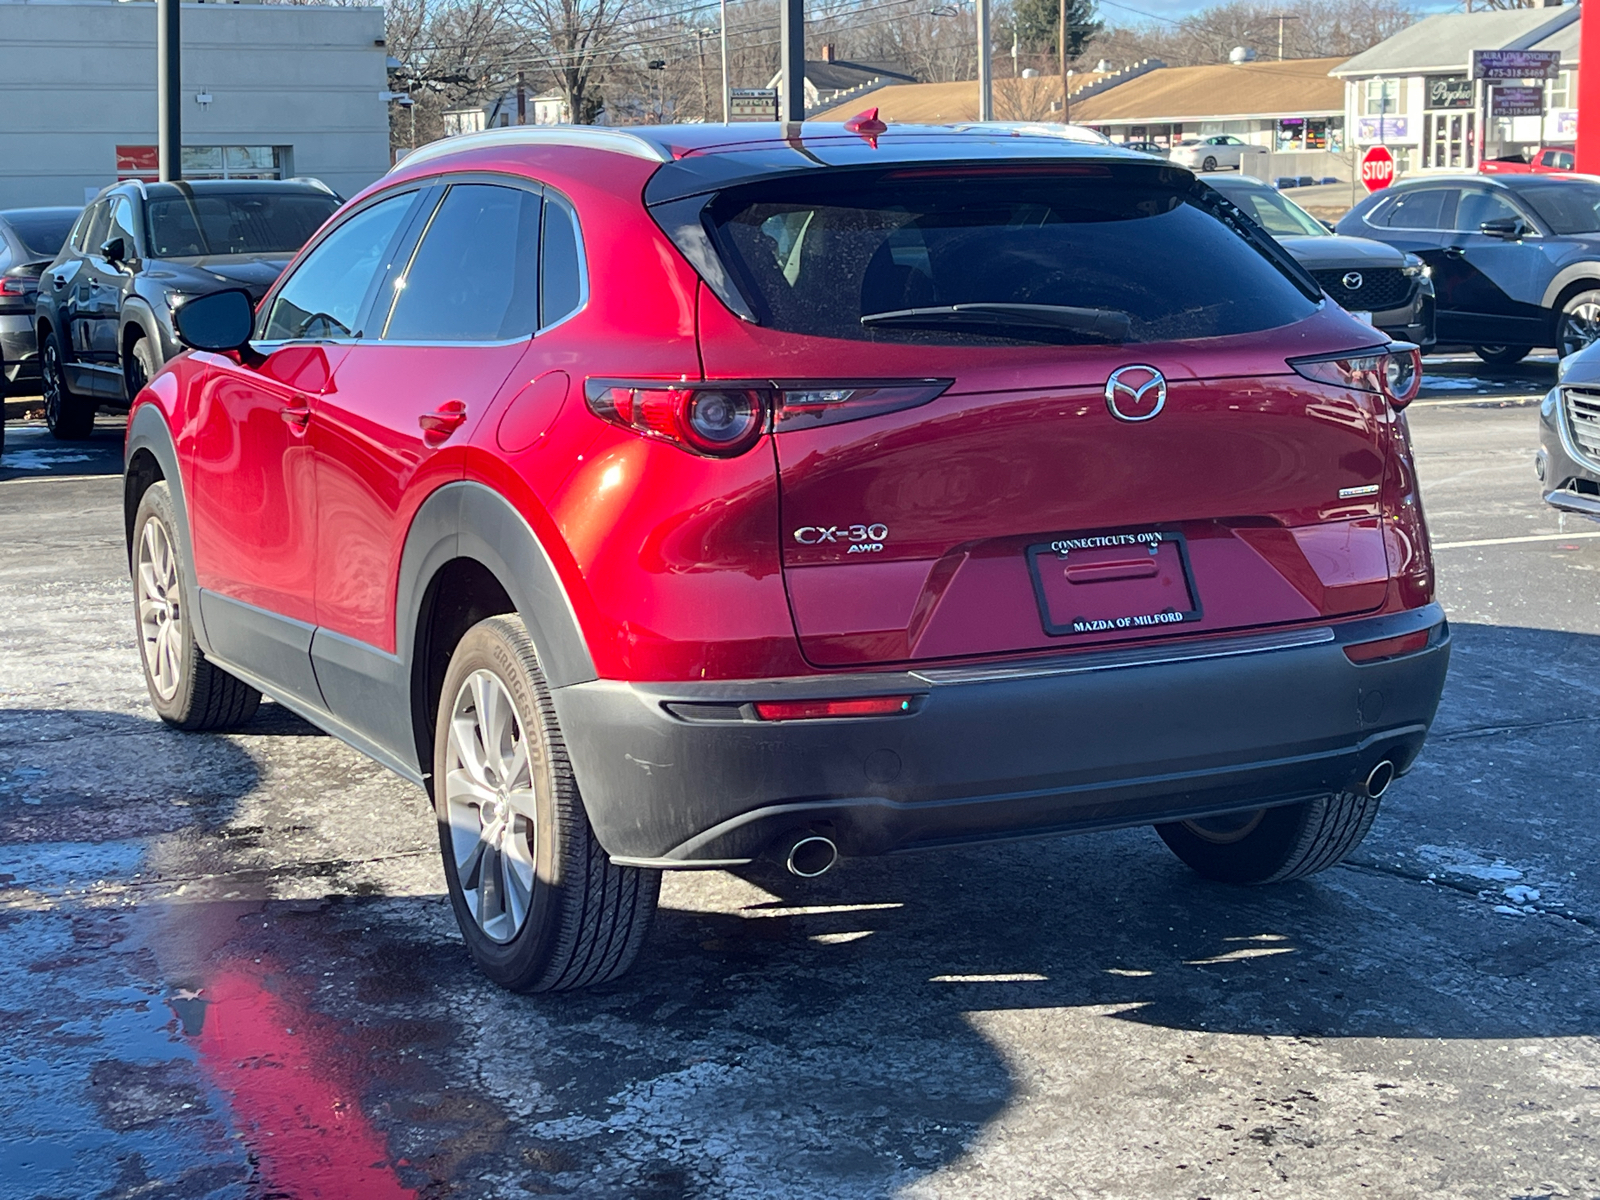
M 1168 174 L 830 171 L 730 189 L 709 219 L 762 323 L 819 338 L 1152 342 L 1315 310 L 1259 230 L 1226 224 L 1205 189 Z

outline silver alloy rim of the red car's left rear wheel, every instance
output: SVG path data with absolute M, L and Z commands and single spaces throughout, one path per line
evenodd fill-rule
M 462 682 L 450 710 L 445 819 L 456 877 L 483 936 L 509 942 L 533 901 L 536 808 L 528 733 L 488 670 Z

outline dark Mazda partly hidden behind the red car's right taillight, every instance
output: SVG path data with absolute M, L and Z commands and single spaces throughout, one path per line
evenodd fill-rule
M 1416 254 L 1339 237 L 1275 187 L 1245 174 L 1200 176 L 1266 229 L 1328 296 L 1390 338 L 1434 346 L 1434 283 Z

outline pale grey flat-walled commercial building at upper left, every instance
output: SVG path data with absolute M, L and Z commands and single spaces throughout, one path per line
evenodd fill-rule
M 0 208 L 155 178 L 155 35 L 152 0 L 0 0 Z M 181 64 L 186 174 L 389 168 L 382 8 L 186 3 Z

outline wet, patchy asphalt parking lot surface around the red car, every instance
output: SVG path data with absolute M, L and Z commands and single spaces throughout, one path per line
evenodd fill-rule
M 120 430 L 0 459 L 0 1197 L 1600 1197 L 1600 525 L 1554 363 L 1413 406 L 1454 629 L 1355 859 L 1131 829 L 669 875 L 606 989 L 472 968 L 421 790 L 155 720 Z

